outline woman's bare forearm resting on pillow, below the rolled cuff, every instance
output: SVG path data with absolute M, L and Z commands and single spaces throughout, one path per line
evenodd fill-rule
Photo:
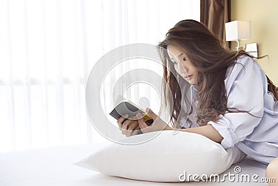
M 173 130 L 172 127 L 165 127 L 165 130 Z M 213 127 L 213 125 L 205 125 L 202 127 L 192 127 L 192 128 L 185 128 L 181 129 L 183 132 L 193 132 L 196 134 L 201 134 L 208 139 L 211 139 L 215 142 L 220 143 L 223 137 L 219 134 L 217 130 Z

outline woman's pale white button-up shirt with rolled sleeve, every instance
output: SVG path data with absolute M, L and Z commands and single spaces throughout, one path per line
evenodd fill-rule
M 227 107 L 249 111 L 220 115 L 210 121 L 223 137 L 224 148 L 237 146 L 243 153 L 268 164 L 278 156 L 278 102 L 268 93 L 268 82 L 259 63 L 240 56 L 224 79 Z

